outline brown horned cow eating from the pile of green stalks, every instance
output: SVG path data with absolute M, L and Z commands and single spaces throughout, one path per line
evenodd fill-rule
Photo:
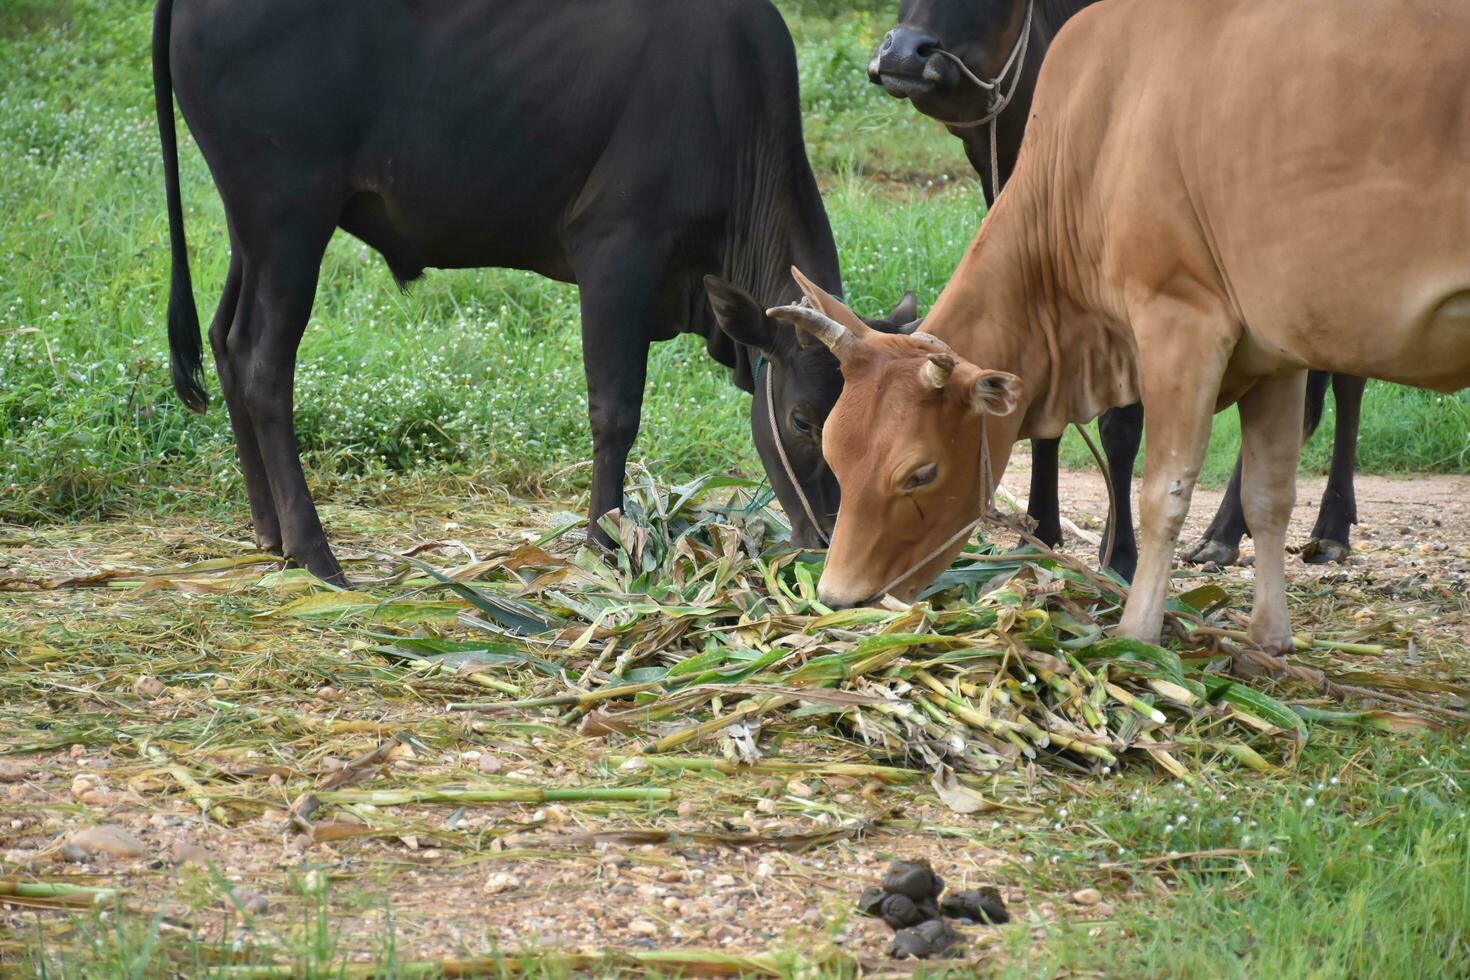
M 1142 398 L 1120 632 L 1157 641 L 1211 416 L 1238 401 L 1251 638 L 1286 649 L 1305 369 L 1470 385 L 1467 50 L 1470 4 L 1448 0 L 1113 0 L 1073 18 L 933 336 L 875 335 L 810 284 L 820 313 L 781 311 L 845 378 L 823 439 L 842 486 L 823 601 L 911 598 L 1017 439 Z

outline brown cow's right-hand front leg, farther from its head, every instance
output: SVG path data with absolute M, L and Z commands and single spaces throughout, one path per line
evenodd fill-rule
M 1291 649 L 1286 614 L 1286 525 L 1297 501 L 1302 395 L 1307 372 L 1258 382 L 1241 398 L 1241 504 L 1255 539 L 1251 639 L 1276 654 Z

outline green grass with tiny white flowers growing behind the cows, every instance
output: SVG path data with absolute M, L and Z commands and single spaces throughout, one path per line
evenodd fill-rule
M 863 65 L 881 4 L 792 10 L 811 157 L 848 291 L 878 311 L 928 304 L 978 226 L 958 144 L 882 96 Z M 0 18 L 0 519 L 131 507 L 237 507 L 218 401 L 185 413 L 168 383 L 168 282 L 148 4 L 12 1 Z M 184 198 L 206 317 L 228 248 L 219 200 L 184 145 Z M 218 395 L 218 391 L 216 391 Z M 338 237 L 298 381 L 297 430 L 315 485 L 360 497 L 395 475 L 512 489 L 578 489 L 589 454 L 573 289 L 529 273 L 431 272 L 401 294 L 384 263 Z M 1467 403 L 1373 385 L 1360 458 L 1373 472 L 1467 472 Z M 635 448 L 669 479 L 754 472 L 748 401 L 698 344 L 660 345 Z M 1227 475 L 1233 413 L 1207 479 Z M 1308 448 L 1324 466 L 1327 436 Z M 1070 447 L 1069 460 L 1083 464 Z

